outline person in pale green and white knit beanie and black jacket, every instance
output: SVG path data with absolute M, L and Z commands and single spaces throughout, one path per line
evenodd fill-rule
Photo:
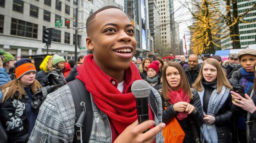
M 54 55 L 53 58 L 49 58 L 47 63 L 47 69 L 49 70 L 48 80 L 50 85 L 57 85 L 63 86 L 66 84 L 65 77 L 63 75 L 64 68 L 65 68 L 65 59 L 61 56 Z

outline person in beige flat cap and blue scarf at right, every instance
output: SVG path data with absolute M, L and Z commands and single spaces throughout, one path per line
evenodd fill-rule
M 238 71 L 235 71 L 232 74 L 232 77 L 231 79 L 229 79 L 229 82 L 232 85 L 243 85 L 245 93 L 248 94 L 249 88 L 253 85 L 253 81 L 255 78 L 253 66 L 256 63 L 256 50 L 245 49 L 243 51 L 240 51 L 237 57 L 242 65 L 242 68 L 240 68 Z M 246 139 L 246 116 L 243 116 L 242 114 L 237 114 L 235 118 L 238 121 L 236 125 L 238 130 L 238 141 L 244 143 Z

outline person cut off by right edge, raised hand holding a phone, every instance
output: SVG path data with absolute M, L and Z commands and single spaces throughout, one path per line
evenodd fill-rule
M 256 63 L 254 64 L 254 75 L 256 75 Z M 247 143 L 256 143 L 256 79 L 254 78 L 254 84 L 245 93 L 245 98 L 238 93 L 231 91 L 231 96 L 233 98 L 232 103 L 235 105 L 236 110 L 243 115 L 247 120 L 247 124 L 251 121 L 252 126 L 246 129 L 246 141 Z M 248 126 L 247 126 L 248 127 Z

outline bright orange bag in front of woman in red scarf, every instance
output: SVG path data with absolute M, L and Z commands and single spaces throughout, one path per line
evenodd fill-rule
M 164 143 L 183 143 L 185 133 L 174 117 L 163 129 Z

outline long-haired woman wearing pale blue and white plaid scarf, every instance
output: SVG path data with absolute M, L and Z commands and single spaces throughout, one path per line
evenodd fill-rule
M 204 143 L 231 143 L 229 122 L 232 117 L 232 86 L 216 59 L 204 61 L 193 87 L 198 90 L 204 112 L 204 124 L 200 127 Z

